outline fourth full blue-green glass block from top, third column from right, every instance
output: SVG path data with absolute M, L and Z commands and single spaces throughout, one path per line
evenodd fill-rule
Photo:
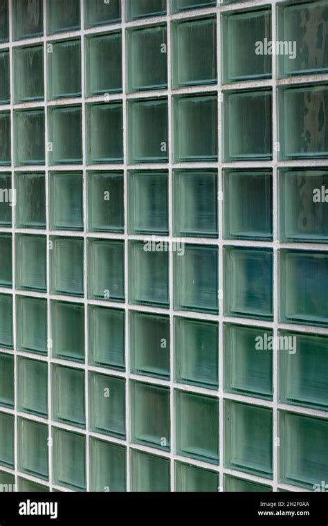
M 174 310 L 219 314 L 219 252 L 209 245 L 183 245 L 174 252 Z

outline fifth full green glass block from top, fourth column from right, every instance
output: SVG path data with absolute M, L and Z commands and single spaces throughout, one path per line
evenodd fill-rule
M 130 370 L 170 379 L 170 317 L 129 311 Z

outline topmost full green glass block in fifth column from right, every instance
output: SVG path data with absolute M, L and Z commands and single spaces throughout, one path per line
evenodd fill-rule
M 122 91 L 122 33 L 120 31 L 105 35 L 87 35 L 85 57 L 87 97 Z

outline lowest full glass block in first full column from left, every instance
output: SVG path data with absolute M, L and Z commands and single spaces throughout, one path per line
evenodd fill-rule
M 48 480 L 48 425 L 19 417 L 17 428 L 19 471 Z

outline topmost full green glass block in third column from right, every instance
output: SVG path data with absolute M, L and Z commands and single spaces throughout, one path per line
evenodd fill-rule
M 216 17 L 174 21 L 172 23 L 172 88 L 216 84 L 216 82 Z

